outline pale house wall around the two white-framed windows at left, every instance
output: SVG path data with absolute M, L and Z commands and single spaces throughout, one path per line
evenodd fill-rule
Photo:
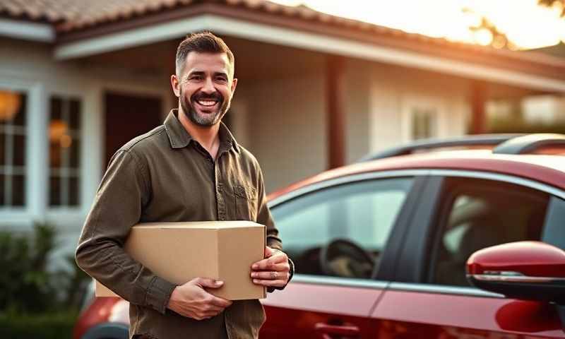
M 19 210 L 0 208 L 0 230 L 27 232 L 34 221 L 49 222 L 59 230 L 57 240 L 61 246 L 54 257 L 62 258 L 73 253 L 103 170 L 105 91 L 160 96 L 166 104 L 163 106 L 170 107 L 167 84 L 166 78 L 139 76 L 111 64 L 95 68 L 88 64 L 55 61 L 52 49 L 45 44 L 0 39 L 0 89 L 24 90 L 29 100 L 27 206 Z M 78 97 L 82 104 L 81 203 L 78 208 L 49 208 L 47 202 L 47 120 L 51 95 Z

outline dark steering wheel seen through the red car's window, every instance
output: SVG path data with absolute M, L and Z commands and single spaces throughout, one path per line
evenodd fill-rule
M 320 250 L 320 267 L 326 275 L 347 278 L 371 278 L 374 258 L 347 239 L 335 239 Z

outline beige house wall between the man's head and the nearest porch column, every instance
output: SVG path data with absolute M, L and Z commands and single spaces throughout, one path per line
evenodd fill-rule
M 323 74 L 240 83 L 234 113 L 246 117 L 246 133 L 234 133 L 261 164 L 267 192 L 326 169 L 323 91 Z

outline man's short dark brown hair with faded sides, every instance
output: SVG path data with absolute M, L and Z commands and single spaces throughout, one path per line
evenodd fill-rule
M 216 37 L 211 32 L 193 33 L 191 35 L 186 35 L 184 40 L 182 40 L 177 48 L 177 61 L 175 62 L 175 71 L 177 72 L 177 76 L 180 76 L 184 67 L 184 61 L 190 52 L 227 54 L 227 59 L 230 61 L 230 68 L 233 76 L 235 69 L 234 54 L 230 50 L 230 47 L 227 47 L 224 40 Z

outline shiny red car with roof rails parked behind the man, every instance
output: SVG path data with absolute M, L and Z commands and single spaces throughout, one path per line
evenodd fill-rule
M 561 135 L 424 141 L 271 194 L 296 273 L 261 338 L 565 338 L 563 155 Z M 74 338 L 126 338 L 127 302 L 91 299 Z

